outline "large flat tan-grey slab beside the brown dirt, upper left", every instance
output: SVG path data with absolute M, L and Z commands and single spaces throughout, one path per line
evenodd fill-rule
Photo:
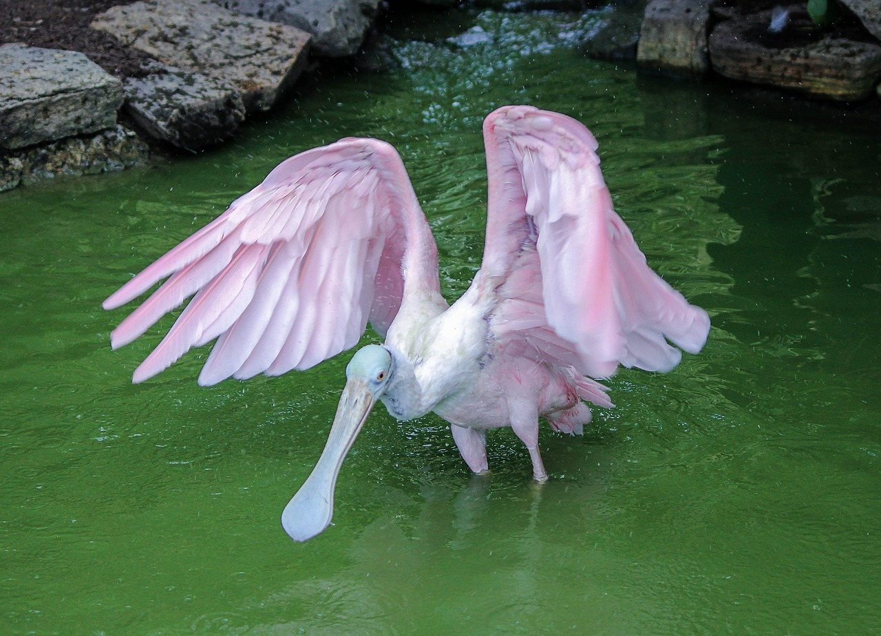
M 168 66 L 233 84 L 248 112 L 269 110 L 300 76 L 309 42 L 292 26 L 209 0 L 142 0 L 100 14 L 92 26 Z

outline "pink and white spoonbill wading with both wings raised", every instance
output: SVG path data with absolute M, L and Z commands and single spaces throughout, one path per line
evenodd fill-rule
M 454 303 L 401 157 L 357 137 L 285 159 L 103 303 L 167 279 L 115 328 L 115 349 L 192 296 L 134 383 L 215 339 L 202 385 L 309 369 L 354 347 L 368 323 L 384 338 L 345 369 L 328 441 L 281 516 L 295 541 L 329 526 L 344 457 L 377 401 L 396 420 L 447 420 L 478 474 L 486 431 L 513 428 L 544 482 L 539 418 L 581 434 L 587 403 L 613 406 L 598 379 L 619 366 L 669 371 L 707 340 L 707 312 L 655 274 L 614 211 L 588 128 L 502 106 L 483 135 L 485 250 Z

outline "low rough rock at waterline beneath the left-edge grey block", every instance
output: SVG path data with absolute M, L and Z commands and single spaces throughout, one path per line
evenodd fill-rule
M 0 153 L 0 192 L 57 176 L 115 172 L 144 164 L 150 150 L 135 133 L 115 125 L 97 135 Z

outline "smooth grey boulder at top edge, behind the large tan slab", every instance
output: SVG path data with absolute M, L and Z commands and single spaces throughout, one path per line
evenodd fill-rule
M 380 0 L 214 0 L 238 13 L 294 26 L 313 36 L 318 55 L 355 55 Z

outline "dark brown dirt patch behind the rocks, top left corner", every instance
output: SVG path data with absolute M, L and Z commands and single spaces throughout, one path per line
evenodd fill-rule
M 94 16 L 134 0 L 0 0 L 0 44 L 63 48 L 85 53 L 116 77 L 143 77 L 149 55 L 89 28 Z

